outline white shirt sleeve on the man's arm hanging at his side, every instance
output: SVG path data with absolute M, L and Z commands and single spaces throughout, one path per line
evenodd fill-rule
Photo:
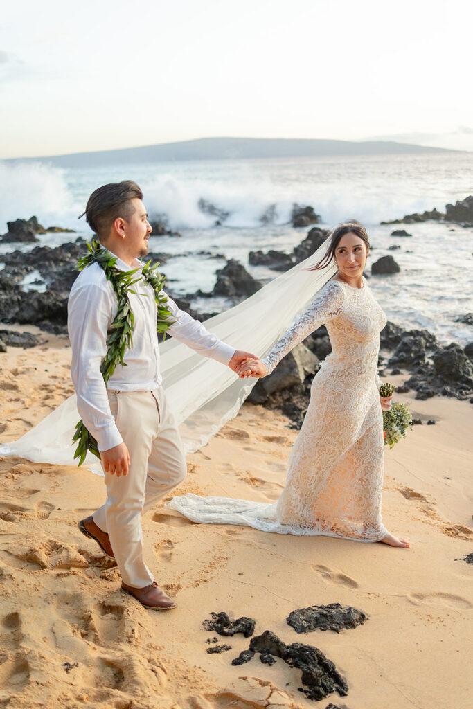
M 99 451 L 119 445 L 123 438 L 111 414 L 100 365 L 107 351 L 107 330 L 116 303 L 106 286 L 74 284 L 69 294 L 67 329 L 72 346 L 71 377 L 77 409 Z

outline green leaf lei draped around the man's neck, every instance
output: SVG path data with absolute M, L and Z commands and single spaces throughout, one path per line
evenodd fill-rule
M 79 259 L 77 271 L 82 271 L 87 266 L 97 263 L 103 269 L 107 281 L 110 281 L 115 291 L 118 301 L 118 309 L 113 323 L 108 330 L 106 340 L 107 352 L 100 365 L 100 371 L 104 377 L 105 384 L 115 371 L 117 364 L 126 367 L 126 362 L 123 357 L 127 347 L 132 345 L 133 335 L 133 312 L 130 308 L 130 300 L 128 293 L 135 293 L 131 290 L 131 286 L 139 281 L 142 277 L 155 291 L 155 301 L 157 306 L 156 331 L 157 333 L 166 333 L 166 330 L 173 324 L 169 320 L 171 311 L 167 307 L 167 298 L 162 294 L 162 286 L 165 282 L 165 277 L 157 272 L 159 264 L 151 264 L 148 261 L 143 269 L 133 269 L 131 271 L 120 271 L 116 267 L 116 256 L 113 256 L 108 250 L 104 249 L 101 244 L 93 240 L 87 244 L 89 254 Z M 138 277 L 135 274 L 140 272 Z M 142 295 L 142 294 L 140 294 Z M 143 294 L 145 296 L 145 294 Z M 79 458 L 79 465 L 85 460 L 87 451 L 93 453 L 97 458 L 100 458 L 99 448 L 96 439 L 85 428 L 82 420 L 76 426 L 72 442 L 77 442 L 77 450 L 74 453 L 74 459 Z

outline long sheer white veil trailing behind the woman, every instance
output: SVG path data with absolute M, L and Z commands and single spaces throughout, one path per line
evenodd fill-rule
M 327 250 L 325 242 L 308 259 L 271 281 L 255 295 L 225 313 L 206 320 L 206 328 L 228 345 L 264 357 L 296 315 L 333 277 L 335 264 L 308 271 Z M 160 345 L 163 386 L 179 425 L 186 453 L 195 452 L 231 418 L 255 386 L 238 379 L 228 367 L 206 359 L 172 337 Z M 0 445 L 0 454 L 33 462 L 75 465 L 72 435 L 79 420 L 76 397 L 69 397 L 18 440 Z M 87 467 L 101 474 L 93 455 Z

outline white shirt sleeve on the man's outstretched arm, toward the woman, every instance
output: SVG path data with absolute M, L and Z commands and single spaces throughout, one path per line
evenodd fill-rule
M 172 298 L 166 297 L 166 305 L 172 313 L 171 319 L 174 320 L 167 333 L 179 342 L 184 342 L 184 345 L 191 347 L 192 350 L 199 352 L 203 357 L 211 357 L 221 364 L 228 364 L 236 352 L 235 347 L 226 345 L 216 335 L 209 333 L 204 325 L 199 323 L 199 320 L 191 318 L 189 313 L 179 309 Z

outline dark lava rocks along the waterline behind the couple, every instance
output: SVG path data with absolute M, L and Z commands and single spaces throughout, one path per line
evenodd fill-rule
M 473 196 L 457 202 L 455 206 L 447 205 L 445 209 L 445 214 L 434 209 L 423 215 L 406 216 L 403 220 L 390 223 L 414 223 L 427 219 L 456 220 L 462 225 L 473 223 Z M 219 216 L 223 218 L 223 215 Z M 293 225 L 304 228 L 317 220 L 318 215 L 313 208 L 294 206 Z M 19 243 L 29 243 L 37 240 L 37 233 L 66 231 L 58 227 L 45 229 L 35 217 L 29 220 L 18 219 L 8 223 L 8 227 L 9 232 L 0 240 L 9 243 L 14 243 L 15 240 Z M 167 229 L 161 222 L 154 224 L 153 232 L 157 235 L 179 237 L 179 234 Z M 328 235 L 328 230 L 313 227 L 290 253 L 275 250 L 251 251 L 248 261 L 252 266 L 265 266 L 276 272 L 285 272 L 313 254 Z M 391 235 L 399 238 L 410 237 L 406 230 L 394 230 Z M 396 245 L 389 247 L 390 250 L 396 248 Z M 1 255 L 0 260 L 5 265 L 4 269 L 0 270 L 0 323 L 37 325 L 48 333 L 67 333 L 67 298 L 77 278 L 77 260 L 85 253 L 86 242 L 79 237 L 74 242 L 55 248 L 38 245 L 28 252 L 14 250 Z M 169 254 L 150 253 L 149 257 L 165 264 Z M 371 267 L 372 277 L 396 272 L 399 272 L 399 265 L 389 255 L 380 257 Z M 32 283 L 40 284 L 43 292 L 23 289 L 25 279 L 34 276 L 37 279 Z M 179 298 L 172 294 L 169 286 L 166 290 L 180 308 L 199 320 L 205 320 L 213 313 L 196 313 L 191 307 L 196 298 L 225 296 L 230 302 L 238 303 L 261 287 L 262 283 L 252 277 L 243 264 L 230 259 L 223 269 L 216 272 L 216 284 L 210 292 L 199 290 L 185 298 Z M 473 314 L 464 314 L 459 316 L 458 320 L 473 325 Z M 0 352 L 5 352 L 6 346 L 33 347 L 39 342 L 40 338 L 30 333 L 0 331 Z M 285 357 L 275 372 L 257 382 L 249 401 L 264 404 L 269 408 L 279 408 L 295 425 L 300 425 L 310 397 L 311 380 L 318 372 L 320 362 L 329 352 L 327 331 L 325 328 L 319 328 Z M 473 403 L 473 342 L 469 342 L 466 347 L 460 347 L 455 342 L 444 346 L 428 330 L 404 330 L 398 325 L 388 323 L 381 335 L 379 367 L 381 376 L 401 374 L 401 371 L 406 374 L 406 381 L 399 391 L 413 391 L 418 399 L 440 394 L 469 399 Z

